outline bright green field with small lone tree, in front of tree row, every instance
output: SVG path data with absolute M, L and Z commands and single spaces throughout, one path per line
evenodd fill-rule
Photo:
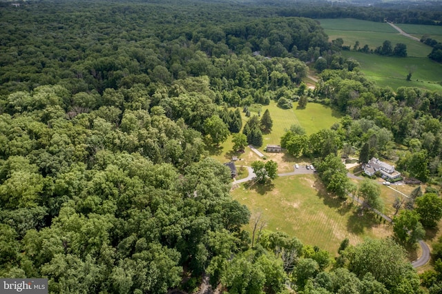
M 418 87 L 427 90 L 442 90 L 442 65 L 427 58 L 398 58 L 343 51 L 343 56 L 356 59 L 368 79 L 381 87 Z M 414 68 L 412 80 L 407 81 L 408 68 Z

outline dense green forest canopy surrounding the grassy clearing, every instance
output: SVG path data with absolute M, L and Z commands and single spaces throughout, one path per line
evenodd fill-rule
M 405 173 L 438 182 L 441 93 L 376 87 L 313 16 L 282 15 L 283 1 L 19 4 L 0 10 L 1 277 L 47 277 L 51 293 L 193 291 L 204 273 L 231 293 L 421 291 L 392 240 L 347 244 L 336 261 L 280 232 L 252 248 L 251 213 L 206 147 L 241 129 L 262 144 L 271 124 L 242 128 L 239 108 L 308 97 L 346 116 L 287 135 L 301 136 L 298 155 L 345 142 L 389 157 L 396 142 L 410 146 Z M 392 266 L 375 266 L 379 251 Z

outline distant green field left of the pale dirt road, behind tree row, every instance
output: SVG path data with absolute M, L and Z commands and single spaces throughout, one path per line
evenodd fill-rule
M 367 44 L 370 49 L 374 50 L 376 47 L 382 46 L 385 40 L 389 40 L 393 46 L 396 43 L 404 43 L 407 46 L 409 57 L 427 57 L 432 50 L 430 46 L 400 35 L 387 23 L 358 19 L 320 19 L 319 21 L 329 35 L 330 41 L 342 38 L 344 45 L 351 48 L 356 41 L 359 41 L 360 47 Z

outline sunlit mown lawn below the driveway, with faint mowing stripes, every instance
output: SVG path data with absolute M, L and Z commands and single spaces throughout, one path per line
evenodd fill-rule
M 317 245 L 332 255 L 346 237 L 357 244 L 364 237 L 392 234 L 390 224 L 372 213 L 358 215 L 349 202 L 327 195 L 316 175 L 279 177 L 269 186 L 242 184 L 231 194 L 252 213 L 262 213 L 267 230 L 296 236 L 303 244 Z

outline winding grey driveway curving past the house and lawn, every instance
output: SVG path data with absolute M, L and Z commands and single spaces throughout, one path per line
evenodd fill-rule
M 238 179 L 238 181 L 233 181 L 233 185 L 241 184 L 244 182 L 249 182 L 251 179 L 253 179 L 253 177 L 256 177 L 255 173 L 253 173 L 253 168 L 251 168 L 250 166 L 244 166 L 244 168 L 247 168 L 247 170 L 249 170 L 249 176 L 244 179 Z M 312 173 L 314 173 L 313 170 L 307 170 L 307 168 L 305 168 L 305 166 L 300 166 L 299 168 L 295 168 L 295 170 L 291 173 L 280 173 L 280 174 L 278 174 L 278 176 L 285 177 L 285 176 L 289 176 L 289 175 L 305 175 L 305 174 L 312 174 Z M 353 177 L 356 179 L 361 179 L 361 177 L 356 177 L 350 173 L 347 173 L 347 176 Z M 352 197 L 353 199 L 356 199 L 353 197 L 353 195 L 350 195 L 350 197 Z M 359 203 L 362 204 L 362 200 L 359 200 Z M 376 209 L 373 209 L 373 211 L 374 211 L 374 213 L 381 215 L 381 217 L 383 217 L 383 219 L 385 219 L 387 222 L 393 222 L 393 220 L 390 217 L 388 217 L 387 215 L 384 215 L 383 213 L 381 213 L 381 211 L 378 211 Z M 419 245 L 422 248 L 422 255 L 418 259 L 414 260 L 414 262 L 412 262 L 412 266 L 414 268 L 419 268 L 419 266 L 424 266 L 430 260 L 430 248 L 428 248 L 428 245 L 425 242 L 423 242 L 423 240 L 419 240 Z

